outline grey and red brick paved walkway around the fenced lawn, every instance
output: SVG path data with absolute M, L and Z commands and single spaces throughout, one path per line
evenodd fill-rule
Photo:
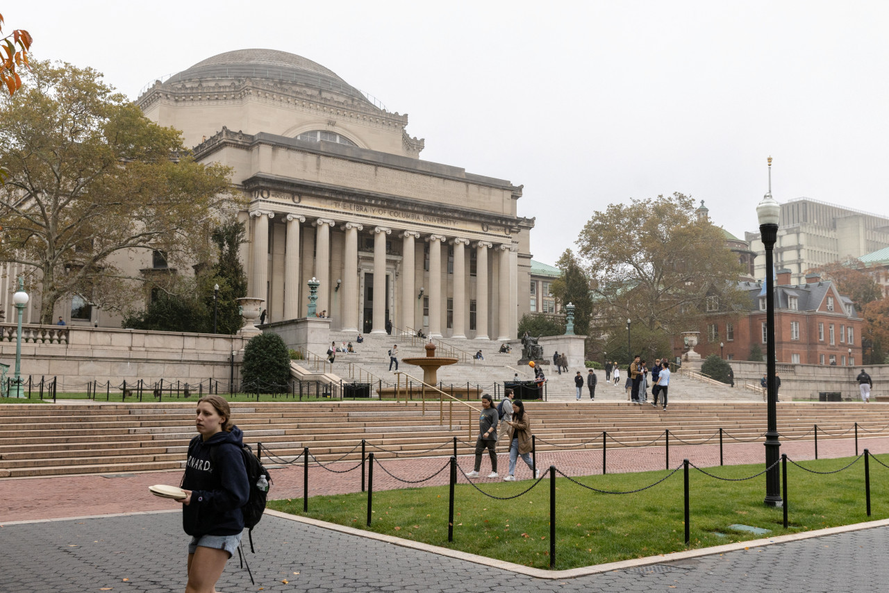
M 889 453 L 889 437 L 862 438 L 859 445 L 872 453 Z M 788 441 L 781 451 L 796 461 L 813 459 L 813 442 Z M 852 439 L 819 441 L 820 457 L 853 454 Z M 726 464 L 761 463 L 763 455 L 761 443 L 725 445 Z M 718 445 L 670 445 L 671 466 L 685 457 L 700 466 L 717 465 Z M 384 460 L 382 464 L 395 476 L 416 479 L 432 474 L 446 461 L 440 457 Z M 554 464 L 569 475 L 600 473 L 601 461 L 601 450 L 541 452 L 539 457 L 541 467 Z M 460 463 L 464 470 L 471 469 L 471 457 L 461 457 Z M 483 471 L 487 463 L 485 458 Z M 505 464 L 503 455 L 501 463 Z M 663 446 L 608 450 L 609 473 L 663 469 L 665 463 Z M 351 465 L 354 463 L 344 462 L 331 469 Z M 0 541 L 4 542 L 0 591 L 183 590 L 187 537 L 181 531 L 179 510 L 164 512 L 178 505 L 151 496 L 147 489 L 151 484 L 178 484 L 180 476 L 176 471 L 0 480 L 0 500 L 4 501 L 0 509 Z M 530 477 L 530 472 L 522 468 L 517 476 Z M 301 466 L 276 469 L 274 479 L 276 498 L 302 495 Z M 429 484 L 446 484 L 446 480 L 446 472 L 442 472 Z M 375 471 L 375 489 L 401 486 L 385 472 Z M 310 495 L 359 489 L 358 470 L 333 474 L 318 467 L 310 469 Z M 130 514 L 47 521 L 108 513 Z M 889 565 L 884 558 L 889 527 L 885 526 L 556 581 L 270 515 L 256 534 L 259 553 L 248 555 L 256 584 L 250 583 L 246 571 L 238 569 L 235 558 L 220 580 L 220 592 L 730 589 L 833 593 L 889 589 Z

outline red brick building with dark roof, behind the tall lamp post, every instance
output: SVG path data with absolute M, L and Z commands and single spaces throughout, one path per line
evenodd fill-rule
M 790 284 L 790 270 L 781 269 L 775 282 L 775 352 L 782 364 L 853 366 L 861 364 L 861 328 L 852 301 L 818 274 L 805 276 L 806 284 Z M 698 328 L 701 337 L 695 351 L 701 357 L 721 355 L 728 360 L 748 360 L 757 344 L 765 360 L 765 284 L 741 281 L 738 288 L 749 295 L 744 313 L 720 312 L 709 301 Z M 682 342 L 674 348 L 680 356 Z

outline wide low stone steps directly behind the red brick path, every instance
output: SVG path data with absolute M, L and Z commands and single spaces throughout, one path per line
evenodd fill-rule
M 607 388 L 603 388 L 607 389 Z M 617 392 L 618 388 L 611 388 Z M 620 389 L 621 394 L 623 389 Z M 0 406 L 0 477 L 114 474 L 180 469 L 194 429 L 194 403 L 58 404 Z M 814 424 L 838 437 L 859 422 L 868 429 L 889 425 L 889 405 L 789 404 L 778 405 L 779 430 L 802 437 Z M 263 402 L 233 403 L 232 413 L 250 445 L 261 442 L 277 460 L 290 461 L 308 446 L 319 461 L 360 459 L 359 445 L 380 458 L 420 453 L 438 447 L 448 455 L 458 437 L 459 454 L 471 453 L 477 413 L 454 404 L 453 424 L 445 406 L 420 402 Z M 765 404 L 672 400 L 669 412 L 625 401 L 593 404 L 529 402 L 534 434 L 557 445 L 587 442 L 607 430 L 627 444 L 644 444 L 669 429 L 685 440 L 703 440 L 719 428 L 733 437 L 755 438 L 765 432 Z M 861 436 L 867 433 L 862 432 Z M 847 435 L 848 436 L 848 435 Z M 811 438 L 811 437 L 808 437 Z M 820 434 L 819 438 L 829 438 Z M 593 443 L 588 448 L 601 445 Z M 611 446 L 611 445 L 609 445 Z M 255 449 L 255 447 L 254 447 Z M 268 461 L 268 460 L 267 460 Z M 274 465 L 274 463 L 272 463 Z

